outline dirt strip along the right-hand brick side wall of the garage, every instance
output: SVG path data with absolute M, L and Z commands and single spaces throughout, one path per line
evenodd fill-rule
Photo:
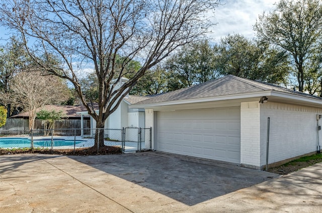
M 319 162 L 321 162 L 321 160 L 316 160 L 316 159 L 307 160 L 305 162 L 290 162 L 290 163 L 287 163 L 285 165 L 269 168 L 268 171 L 276 173 L 276 174 L 284 175 L 284 174 L 289 174 L 291 172 L 300 170 L 301 168 L 305 168 L 305 167 L 314 165 L 314 164 L 319 163 Z

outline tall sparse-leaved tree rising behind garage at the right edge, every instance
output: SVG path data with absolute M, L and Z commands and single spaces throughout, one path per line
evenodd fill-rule
M 263 13 L 254 26 L 257 36 L 285 50 L 296 68 L 298 90 L 304 90 L 305 76 L 311 68 L 312 53 L 322 33 L 322 5 L 319 0 L 281 0 L 268 14 Z M 314 70 L 314 69 L 313 69 Z

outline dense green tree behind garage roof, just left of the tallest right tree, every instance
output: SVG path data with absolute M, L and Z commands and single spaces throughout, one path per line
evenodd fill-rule
M 287 83 L 289 61 L 282 51 L 243 35 L 228 35 L 215 46 L 216 69 L 221 75 L 234 75 L 269 83 Z

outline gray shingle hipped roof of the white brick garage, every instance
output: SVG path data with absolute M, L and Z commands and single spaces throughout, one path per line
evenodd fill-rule
M 222 78 L 208 81 L 202 84 L 155 96 L 136 104 L 153 104 L 271 90 L 322 100 L 321 98 L 316 96 L 293 91 L 273 84 L 243 79 L 233 75 L 227 75 Z

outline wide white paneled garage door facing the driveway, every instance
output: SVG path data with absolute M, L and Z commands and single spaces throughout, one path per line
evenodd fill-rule
M 159 111 L 156 150 L 240 163 L 240 107 Z

